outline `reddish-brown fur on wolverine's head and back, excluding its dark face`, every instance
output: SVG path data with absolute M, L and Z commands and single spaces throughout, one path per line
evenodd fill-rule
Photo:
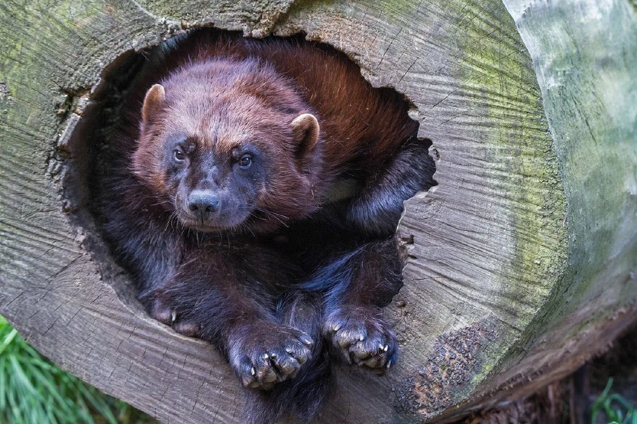
M 250 69 L 246 60 L 257 63 Z M 252 232 L 279 227 L 281 216 L 311 215 L 346 173 L 373 178 L 417 128 L 395 92 L 371 87 L 352 62 L 321 45 L 201 32 L 165 62 L 170 68 L 149 78 L 161 81 L 166 94 L 162 101 L 149 92 L 159 104 L 145 108 L 135 173 L 166 195 L 157 134 L 170 127 L 181 128 L 200 148 L 226 154 L 248 136 L 273 160 L 272 178 L 261 187 L 256 206 L 276 214 L 250 220 Z M 220 74 L 224 78 L 213 78 Z M 290 123 L 301 113 L 316 116 L 320 133 L 318 146 L 303 146 L 304 156 L 297 159 Z

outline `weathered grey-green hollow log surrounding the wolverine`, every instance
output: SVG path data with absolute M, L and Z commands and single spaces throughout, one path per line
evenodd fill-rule
M 407 202 L 387 377 L 344 373 L 322 421 L 419 421 L 530 390 L 603 348 L 637 299 L 637 11 L 627 1 L 5 0 L 0 313 L 162 421 L 236 421 L 206 343 L 140 308 L 83 209 L 78 123 L 104 67 L 188 27 L 304 31 L 413 103 L 439 185 Z M 530 381 L 530 383 L 529 383 Z

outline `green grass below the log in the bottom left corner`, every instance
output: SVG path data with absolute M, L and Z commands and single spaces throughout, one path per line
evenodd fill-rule
M 0 316 L 0 423 L 154 422 L 52 364 Z

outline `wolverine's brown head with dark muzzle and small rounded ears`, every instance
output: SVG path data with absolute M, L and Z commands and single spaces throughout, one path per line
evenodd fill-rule
M 153 85 L 132 169 L 197 230 L 271 230 L 318 207 L 317 119 L 256 60 L 190 65 Z

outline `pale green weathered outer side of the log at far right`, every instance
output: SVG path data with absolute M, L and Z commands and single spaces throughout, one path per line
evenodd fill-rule
M 568 339 L 637 298 L 637 19 L 624 1 L 550 13 L 506 3 L 524 11 L 561 164 L 569 268 L 541 324 L 565 327 L 555 337 Z M 587 322 L 564 325 L 582 308 Z

